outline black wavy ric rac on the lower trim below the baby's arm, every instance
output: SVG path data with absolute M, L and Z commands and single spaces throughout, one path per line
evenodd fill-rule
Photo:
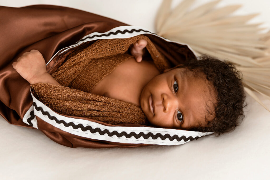
M 171 136 L 170 134 L 162 135 L 160 133 L 157 133 L 155 135 L 153 133 L 144 134 L 143 132 L 140 132 L 139 134 L 131 132 L 131 133 L 128 134 L 126 132 L 121 132 L 121 133 L 119 133 L 117 131 L 110 132 L 107 129 L 101 130 L 100 128 L 92 128 L 92 126 L 90 126 L 90 125 L 84 127 L 82 124 L 75 125 L 73 122 L 67 123 L 64 120 L 58 120 L 55 116 L 50 116 L 49 112 L 44 111 L 42 107 L 38 107 L 35 102 L 33 102 L 33 105 L 34 105 L 34 107 L 36 108 L 37 111 L 41 111 L 41 113 L 43 115 L 48 116 L 48 118 L 50 120 L 54 120 L 58 124 L 62 123 L 65 127 L 72 126 L 73 129 L 81 128 L 82 131 L 89 130 L 93 134 L 98 132 L 100 135 L 108 134 L 110 137 L 112 137 L 113 135 L 116 135 L 117 137 L 122 137 L 122 136 L 125 136 L 126 138 L 135 137 L 136 139 L 139 139 L 140 137 L 143 137 L 144 139 L 148 139 L 149 137 L 151 137 L 153 139 L 157 139 L 159 137 L 161 140 L 165 140 L 166 138 L 168 138 L 170 141 L 173 141 L 173 140 L 176 139 L 177 141 L 184 140 L 185 142 L 188 141 L 188 140 L 193 141 L 193 140 L 196 140 L 196 139 L 199 138 L 198 136 L 196 136 L 195 138 L 193 138 L 192 136 L 185 137 L 184 135 L 179 137 L 177 135 Z

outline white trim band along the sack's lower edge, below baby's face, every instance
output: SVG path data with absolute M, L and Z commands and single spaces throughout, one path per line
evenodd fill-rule
M 203 135 L 211 134 L 211 133 L 201 133 L 197 131 L 185 131 L 185 130 L 176 130 L 176 129 L 166 129 L 166 128 L 154 128 L 154 127 L 120 127 L 120 126 L 105 126 L 99 123 L 95 123 L 92 121 L 87 121 L 79 118 L 71 118 L 71 117 L 65 117 L 62 116 L 53 110 L 51 110 L 49 107 L 47 107 L 45 104 L 40 102 L 38 99 L 36 99 L 32 92 L 31 96 L 33 98 L 33 102 L 36 103 L 38 107 L 41 107 L 44 111 L 48 112 L 50 116 L 56 117 L 58 120 L 63 120 L 66 123 L 73 122 L 75 125 L 82 124 L 84 127 L 91 126 L 92 128 L 100 128 L 102 131 L 103 130 L 109 130 L 110 133 L 113 131 L 117 131 L 118 133 L 121 132 L 126 132 L 127 134 L 134 132 L 136 134 L 139 134 L 143 132 L 144 134 L 147 133 L 153 133 L 156 135 L 157 133 L 160 133 L 162 135 L 169 134 L 170 136 L 177 135 L 178 137 L 185 136 L 185 137 L 201 137 Z M 110 137 L 108 134 L 100 135 L 98 132 L 96 133 L 91 133 L 90 130 L 87 131 L 82 131 L 81 128 L 74 129 L 72 126 L 66 127 L 63 123 L 56 123 L 56 121 L 51 120 L 47 115 L 43 115 L 41 111 L 36 110 L 34 108 L 34 114 L 35 116 L 38 116 L 41 118 L 43 121 L 53 125 L 54 127 L 59 128 L 62 131 L 66 131 L 70 134 L 78 135 L 81 137 L 86 137 L 86 138 L 91 138 L 91 139 L 96 139 L 96 140 L 105 140 L 105 141 L 110 141 L 110 142 L 121 142 L 121 143 L 130 143 L 130 144 L 158 144 L 158 145 L 177 145 L 177 144 L 184 144 L 188 141 L 177 141 L 174 139 L 173 141 L 170 141 L 168 138 L 165 140 L 161 140 L 161 138 L 153 139 L 151 137 L 144 139 L 143 137 L 140 137 L 136 139 L 135 137 L 130 137 L 126 138 L 124 135 L 122 137 L 117 137 L 116 135 L 113 135 Z

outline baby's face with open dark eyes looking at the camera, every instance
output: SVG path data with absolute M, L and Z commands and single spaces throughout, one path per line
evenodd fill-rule
M 205 76 L 194 77 L 184 70 L 169 70 L 151 79 L 143 88 L 140 106 L 151 124 L 183 130 L 207 124 L 206 107 L 213 110 L 215 93 L 208 87 Z

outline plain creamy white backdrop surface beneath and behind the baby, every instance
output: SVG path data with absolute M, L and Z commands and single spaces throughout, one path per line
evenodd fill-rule
M 180 1 L 174 1 L 176 5 Z M 197 0 L 193 6 L 209 0 Z M 161 0 L 25 0 L 2 6 L 54 4 L 82 9 L 154 31 Z M 260 13 L 250 23 L 270 30 L 270 1 L 223 0 L 217 7 L 242 4 L 235 15 Z M 1 28 L 1 22 L 0 22 Z M 269 179 L 270 113 L 247 96 L 243 123 L 220 137 L 178 146 L 68 148 L 39 130 L 9 124 L 0 116 L 0 179 Z M 270 107 L 270 101 L 264 100 Z

